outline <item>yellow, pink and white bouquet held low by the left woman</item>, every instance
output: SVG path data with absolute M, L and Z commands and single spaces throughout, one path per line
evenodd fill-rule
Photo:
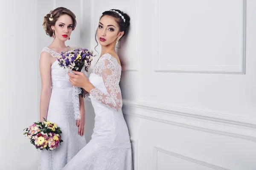
M 38 150 L 54 150 L 63 142 L 60 127 L 45 119 L 44 122 L 34 122 L 33 125 L 24 130 L 26 132 L 23 135 L 30 139 L 30 143 Z

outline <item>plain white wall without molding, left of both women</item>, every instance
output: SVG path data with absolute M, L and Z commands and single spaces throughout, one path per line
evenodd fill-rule
M 0 2 L 1 170 L 37 165 L 37 151 L 23 136 L 23 129 L 38 120 L 36 6 L 35 0 Z

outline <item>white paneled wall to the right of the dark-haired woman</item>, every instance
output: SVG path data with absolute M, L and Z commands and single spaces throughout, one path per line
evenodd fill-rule
M 125 5 L 138 11 L 138 71 L 124 84 L 135 169 L 255 170 L 256 1 Z

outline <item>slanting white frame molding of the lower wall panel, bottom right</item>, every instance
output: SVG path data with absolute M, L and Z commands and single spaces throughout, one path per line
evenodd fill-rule
M 159 152 L 165 153 L 170 156 L 175 156 L 177 158 L 184 159 L 186 161 L 194 162 L 196 164 L 201 164 L 203 166 L 210 167 L 215 170 L 239 170 L 234 167 L 230 167 L 224 164 L 217 164 L 213 161 L 209 161 L 203 158 L 199 158 L 197 156 L 189 155 L 187 153 L 168 151 L 168 150 L 161 149 L 159 147 L 154 147 L 154 170 L 157 170 L 157 157 L 158 157 L 157 154 Z

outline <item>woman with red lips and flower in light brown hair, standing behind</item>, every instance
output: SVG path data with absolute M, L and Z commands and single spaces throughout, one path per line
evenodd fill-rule
M 44 17 L 43 26 L 47 35 L 54 39 L 40 55 L 40 121 L 45 118 L 61 127 L 61 139 L 64 142 L 55 150 L 39 151 L 38 170 L 61 170 L 86 144 L 83 136 L 84 100 L 79 99 L 78 94 L 77 98 L 74 98 L 77 103 L 80 102 L 81 119 L 78 117 L 76 120 L 73 86 L 69 82 L 67 71 L 59 67 L 56 60 L 61 51 L 70 48 L 65 45 L 65 41 L 76 27 L 76 16 L 67 8 L 56 8 Z

